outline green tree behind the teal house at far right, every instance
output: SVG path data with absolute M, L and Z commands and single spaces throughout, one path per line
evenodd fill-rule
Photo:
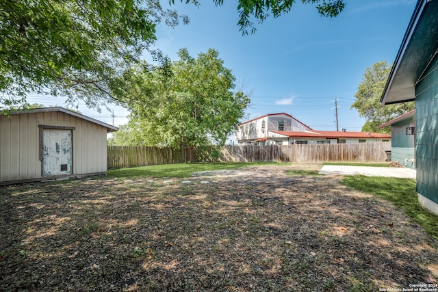
M 382 105 L 380 102 L 390 71 L 391 64 L 387 64 L 386 61 L 377 62 L 365 69 L 355 94 L 356 101 L 351 105 L 351 108 L 357 109 L 359 116 L 366 118 L 362 131 L 391 133 L 390 127 L 382 129 L 377 127 L 415 109 L 414 102 L 396 105 Z

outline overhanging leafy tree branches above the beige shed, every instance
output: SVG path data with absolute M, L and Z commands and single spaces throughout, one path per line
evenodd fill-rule
M 163 19 L 177 25 L 180 18 L 155 0 L 1 1 L 0 103 L 49 92 L 99 107 L 114 98 L 117 77 L 149 49 Z

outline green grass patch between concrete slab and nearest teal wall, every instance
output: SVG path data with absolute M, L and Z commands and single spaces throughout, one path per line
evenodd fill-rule
M 378 196 L 400 207 L 413 222 L 438 240 L 438 217 L 421 207 L 415 191 L 415 180 L 378 176 L 346 176 L 342 184 Z

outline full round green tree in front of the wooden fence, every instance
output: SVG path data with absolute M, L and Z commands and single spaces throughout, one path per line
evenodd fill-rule
M 130 109 L 129 127 L 115 133 L 133 134 L 142 145 L 195 146 L 224 144 L 235 129 L 249 98 L 235 89 L 235 77 L 218 52 L 209 49 L 196 58 L 187 49 L 166 68 L 144 66 L 127 75 L 124 92 Z M 124 133 L 125 132 L 125 133 Z

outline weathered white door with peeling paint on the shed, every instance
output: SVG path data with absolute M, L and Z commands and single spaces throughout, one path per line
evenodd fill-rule
M 42 168 L 44 176 L 71 174 L 71 131 L 44 129 L 43 141 L 44 157 L 42 158 Z

